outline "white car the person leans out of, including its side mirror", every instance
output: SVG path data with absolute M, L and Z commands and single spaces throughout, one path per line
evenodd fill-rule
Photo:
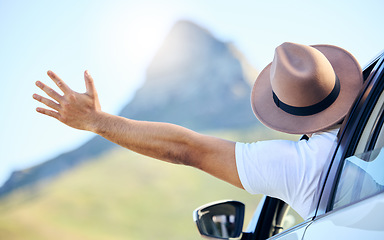
M 384 51 L 363 69 L 364 85 L 338 133 L 315 199 L 300 219 L 283 201 L 263 196 L 243 231 L 243 203 L 197 208 L 194 221 L 212 239 L 384 239 Z

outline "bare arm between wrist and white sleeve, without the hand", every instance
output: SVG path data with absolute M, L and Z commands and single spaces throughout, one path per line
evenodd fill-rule
M 237 175 L 235 143 L 160 122 L 135 121 L 98 114 L 93 132 L 137 153 L 199 168 L 242 188 Z

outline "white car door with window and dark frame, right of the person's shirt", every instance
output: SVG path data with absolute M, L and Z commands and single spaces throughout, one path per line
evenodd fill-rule
M 339 133 L 317 213 L 303 239 L 384 239 L 384 54 Z

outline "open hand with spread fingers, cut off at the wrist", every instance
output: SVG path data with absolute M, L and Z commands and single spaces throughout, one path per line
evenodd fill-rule
M 98 113 L 101 112 L 101 107 L 93 79 L 88 71 L 84 72 L 85 93 L 78 93 L 70 89 L 54 72 L 48 71 L 47 74 L 64 94 L 60 95 L 44 83 L 37 81 L 36 86 L 52 99 L 34 94 L 34 99 L 50 108 L 38 107 L 36 111 L 56 118 L 70 127 L 92 131 L 97 121 Z

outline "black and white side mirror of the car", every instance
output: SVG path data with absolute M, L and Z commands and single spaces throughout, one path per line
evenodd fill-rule
M 197 208 L 193 212 L 193 220 L 202 236 L 238 238 L 243 230 L 244 211 L 244 204 L 238 201 L 213 202 Z

